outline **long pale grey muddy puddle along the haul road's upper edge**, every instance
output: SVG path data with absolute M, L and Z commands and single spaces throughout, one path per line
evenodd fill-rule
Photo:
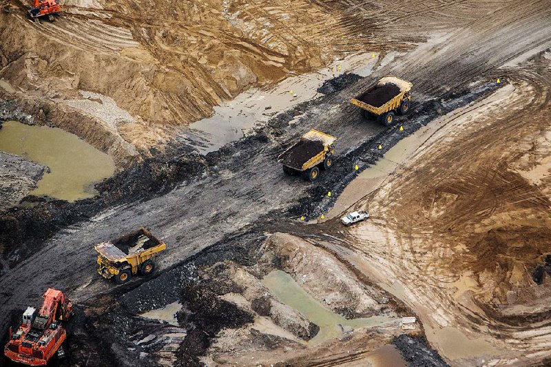
M 242 92 L 232 101 L 214 108 L 214 115 L 191 123 L 191 130 L 180 138 L 202 152 L 218 150 L 226 143 L 243 137 L 243 130 L 256 123 L 266 122 L 273 115 L 320 96 L 316 90 L 324 81 L 345 72 L 354 72 L 361 77 L 371 74 L 377 64 L 378 54 L 366 52 L 352 54 L 327 68 L 284 79 L 273 88 L 253 89 Z

